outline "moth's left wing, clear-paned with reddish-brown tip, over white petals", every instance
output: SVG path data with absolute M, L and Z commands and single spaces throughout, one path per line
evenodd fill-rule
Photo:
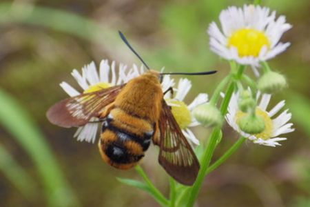
M 55 103 L 46 116 L 55 125 L 70 128 L 83 126 L 112 103 L 125 84 L 70 97 Z

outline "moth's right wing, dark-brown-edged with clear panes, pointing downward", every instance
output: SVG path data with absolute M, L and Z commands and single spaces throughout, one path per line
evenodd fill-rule
M 159 163 L 180 184 L 192 186 L 198 175 L 199 162 L 165 100 L 158 126 Z

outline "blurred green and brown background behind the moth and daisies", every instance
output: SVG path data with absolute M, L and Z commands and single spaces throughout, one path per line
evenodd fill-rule
M 115 170 L 101 161 L 96 144 L 73 138 L 75 129 L 53 126 L 46 110 L 67 97 L 59 87 L 73 68 L 94 60 L 139 63 L 119 39 L 122 30 L 145 61 L 167 71 L 216 69 L 212 77 L 189 77 L 193 89 L 211 95 L 227 75 L 227 62 L 208 48 L 207 26 L 220 10 L 251 1 L 16 0 L 0 3 L 0 206 L 157 206 L 149 195 L 120 184 L 139 179 L 134 170 Z M 277 148 L 244 144 L 212 172 L 198 206 L 310 206 L 310 1 L 270 0 L 293 28 L 282 41 L 287 52 L 270 66 L 287 76 L 287 100 L 296 131 Z M 252 74 L 251 71 L 248 71 Z M 201 84 L 204 83 L 204 84 Z M 204 142 L 208 130 L 196 128 Z M 236 141 L 225 126 L 214 159 Z M 165 195 L 167 175 L 148 150 L 143 168 Z

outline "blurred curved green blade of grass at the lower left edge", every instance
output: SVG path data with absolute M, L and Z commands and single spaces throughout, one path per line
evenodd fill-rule
M 39 127 L 16 99 L 0 89 L 0 124 L 28 153 L 39 171 L 50 206 L 79 206 Z

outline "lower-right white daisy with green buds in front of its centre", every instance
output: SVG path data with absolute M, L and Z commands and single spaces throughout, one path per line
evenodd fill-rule
M 260 92 L 256 99 L 260 98 Z M 258 106 L 256 106 L 256 116 L 261 117 L 265 123 L 265 129 L 256 135 L 249 135 L 245 132 L 242 132 L 238 126 L 238 121 L 241 117 L 245 116 L 246 113 L 242 112 L 238 108 L 238 99 L 239 93 L 234 93 L 228 106 L 228 112 L 226 115 L 226 120 L 228 124 L 234 128 L 237 132 L 240 133 L 243 137 L 253 141 L 255 144 L 262 144 L 265 146 L 280 146 L 278 141 L 286 140 L 285 137 L 280 137 L 280 135 L 293 132 L 293 124 L 287 123 L 291 119 L 291 113 L 288 110 L 284 110 L 278 117 L 274 117 L 282 108 L 285 106 L 285 101 L 280 101 L 276 106 L 271 110 L 267 111 L 267 106 L 271 99 L 271 95 L 262 94 Z

